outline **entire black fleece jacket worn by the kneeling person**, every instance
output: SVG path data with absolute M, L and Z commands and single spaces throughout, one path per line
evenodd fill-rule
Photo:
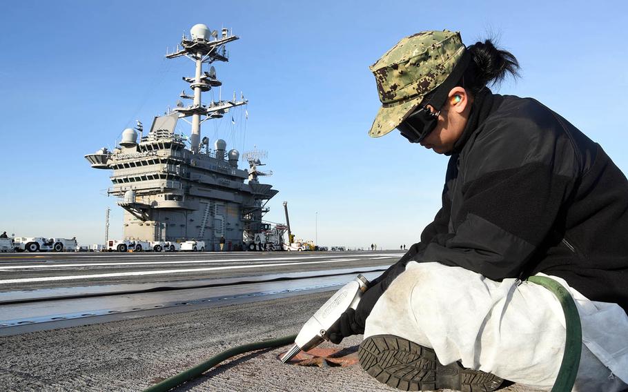
M 556 275 L 628 313 L 628 181 L 556 112 L 485 90 L 451 154 L 442 208 L 375 290 L 411 260 L 491 280 Z

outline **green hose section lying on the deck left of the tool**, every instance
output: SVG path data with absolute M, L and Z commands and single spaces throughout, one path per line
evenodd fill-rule
M 210 357 L 205 362 L 201 364 L 197 364 L 193 368 L 188 369 L 186 371 L 182 371 L 181 373 L 177 375 L 173 375 L 173 377 L 170 377 L 162 382 L 159 382 L 159 384 L 149 386 L 147 389 L 144 390 L 144 392 L 170 391 L 170 389 L 175 388 L 175 386 L 179 386 L 183 384 L 184 382 L 197 378 L 199 375 L 202 375 L 202 373 L 204 373 L 208 369 L 213 368 L 213 366 L 216 366 L 220 362 L 230 357 L 233 357 L 234 355 L 248 353 L 248 351 L 268 349 L 271 347 L 286 346 L 286 344 L 293 344 L 296 338 L 297 338 L 297 335 L 289 335 L 289 336 L 279 337 L 278 339 L 263 340 L 262 342 L 242 344 L 242 346 L 233 347 L 233 349 L 228 349 L 226 351 L 223 351 L 222 353 L 214 355 L 213 357 Z

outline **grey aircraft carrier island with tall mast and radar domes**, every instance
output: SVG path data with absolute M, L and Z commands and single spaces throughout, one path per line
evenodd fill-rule
M 188 57 L 195 62 L 195 76 L 184 77 L 193 95 L 181 92 L 182 99 L 192 102 L 166 115 L 155 117 L 148 135 L 138 121 L 135 129 L 122 133 L 119 146 L 112 151 L 101 148 L 86 155 L 93 168 L 110 169 L 112 186 L 108 193 L 119 197 L 124 208 L 124 239 L 143 241 L 203 240 L 207 250 L 218 248 L 222 236 L 228 249 L 239 249 L 251 241 L 262 228 L 266 202 L 277 190 L 260 184 L 257 166 L 259 152 L 246 154 L 248 170 L 238 168 L 239 152 L 226 150 L 226 142 L 201 137 L 201 124 L 223 117 L 231 108 L 247 103 L 211 101 L 202 103 L 202 92 L 221 86 L 213 66 L 203 71 L 204 64 L 228 61 L 226 43 L 238 39 L 226 28 L 222 34 L 211 32 L 205 25 L 191 29 L 168 59 Z M 188 121 L 186 117 L 191 117 Z M 190 137 L 177 135 L 179 119 L 191 125 Z M 139 141 L 138 141 L 139 133 Z M 189 144 L 189 148 L 188 148 Z M 247 181 L 248 180 L 248 181 Z

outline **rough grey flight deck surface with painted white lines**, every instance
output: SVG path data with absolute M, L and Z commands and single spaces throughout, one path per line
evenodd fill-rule
M 0 384 L 8 391 L 139 391 L 231 347 L 297 333 L 333 291 L 355 277 L 357 271 L 379 270 L 400 257 L 398 252 L 189 253 L 166 257 L 149 253 L 57 254 L 35 260 L 21 259 L 32 255 L 12 256 L 20 259 L 0 258 L 0 269 L 5 270 L 3 280 L 192 268 L 199 271 L 122 275 L 115 277 L 119 282 L 108 275 L 4 283 L 0 284 L 1 300 L 21 300 L 22 303 L 0 304 L 3 316 L 10 306 L 30 304 L 37 308 L 35 305 L 48 304 L 48 307 L 59 310 L 63 306 L 72 308 L 72 304 L 80 304 L 81 301 L 84 304 L 98 300 L 108 303 L 115 296 L 128 297 L 131 302 L 147 306 L 153 303 L 152 300 L 146 301 L 151 293 L 165 297 L 161 300 L 167 302 L 168 295 L 184 293 L 202 300 L 215 298 L 208 291 L 214 291 L 213 294 L 222 291 L 224 300 L 192 304 L 193 300 L 188 298 L 188 305 L 79 317 L 75 324 L 68 324 L 72 320 L 59 320 L 0 329 L 0 332 L 17 331 L 0 336 L 3 352 Z M 302 260 L 304 264 L 293 264 L 297 260 Z M 305 264 L 314 261 L 328 263 Z M 133 264 L 136 262 L 141 265 Z M 150 262 L 198 263 L 187 263 L 183 267 L 177 263 L 148 264 Z M 73 266 L 64 266 L 66 264 Z M 264 264 L 282 265 L 206 269 Z M 29 265 L 37 265 L 38 268 L 15 268 Z M 20 269 L 28 272 L 17 272 Z M 278 275 L 295 279 L 275 280 Z M 257 282 L 251 283 L 254 280 Z M 29 284 L 35 287 L 31 289 Z M 278 290 L 282 284 L 292 285 L 293 288 Z M 264 285 L 271 286 L 264 288 Z M 166 290 L 150 291 L 150 288 L 164 287 Z M 235 294 L 236 291 L 239 294 Z M 190 294 L 195 292 L 197 295 Z M 255 292 L 266 294 L 246 296 L 246 293 Z M 47 302 L 46 295 L 57 299 Z M 93 296 L 81 298 L 80 295 Z M 63 299 L 63 296 L 74 297 Z M 37 302 L 29 303 L 28 300 Z M 340 347 L 355 350 L 361 340 L 361 336 L 351 337 L 344 340 Z M 324 347 L 334 346 L 324 344 Z M 395 391 L 371 378 L 359 365 L 319 368 L 282 364 L 278 356 L 287 349 L 288 346 L 239 355 L 176 390 Z M 503 391 L 533 390 L 512 385 Z

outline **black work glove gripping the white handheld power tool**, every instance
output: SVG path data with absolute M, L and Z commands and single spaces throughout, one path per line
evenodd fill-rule
M 380 299 L 383 293 L 384 288 L 382 282 L 369 288 L 366 293 L 362 295 L 362 299 L 357 304 L 355 311 L 352 308 L 344 311 L 344 313 L 340 315 L 340 319 L 327 330 L 329 341 L 333 344 L 339 344 L 345 337 L 364 333 L 366 317 L 369 317 L 373 306 L 375 306 L 375 302 Z

